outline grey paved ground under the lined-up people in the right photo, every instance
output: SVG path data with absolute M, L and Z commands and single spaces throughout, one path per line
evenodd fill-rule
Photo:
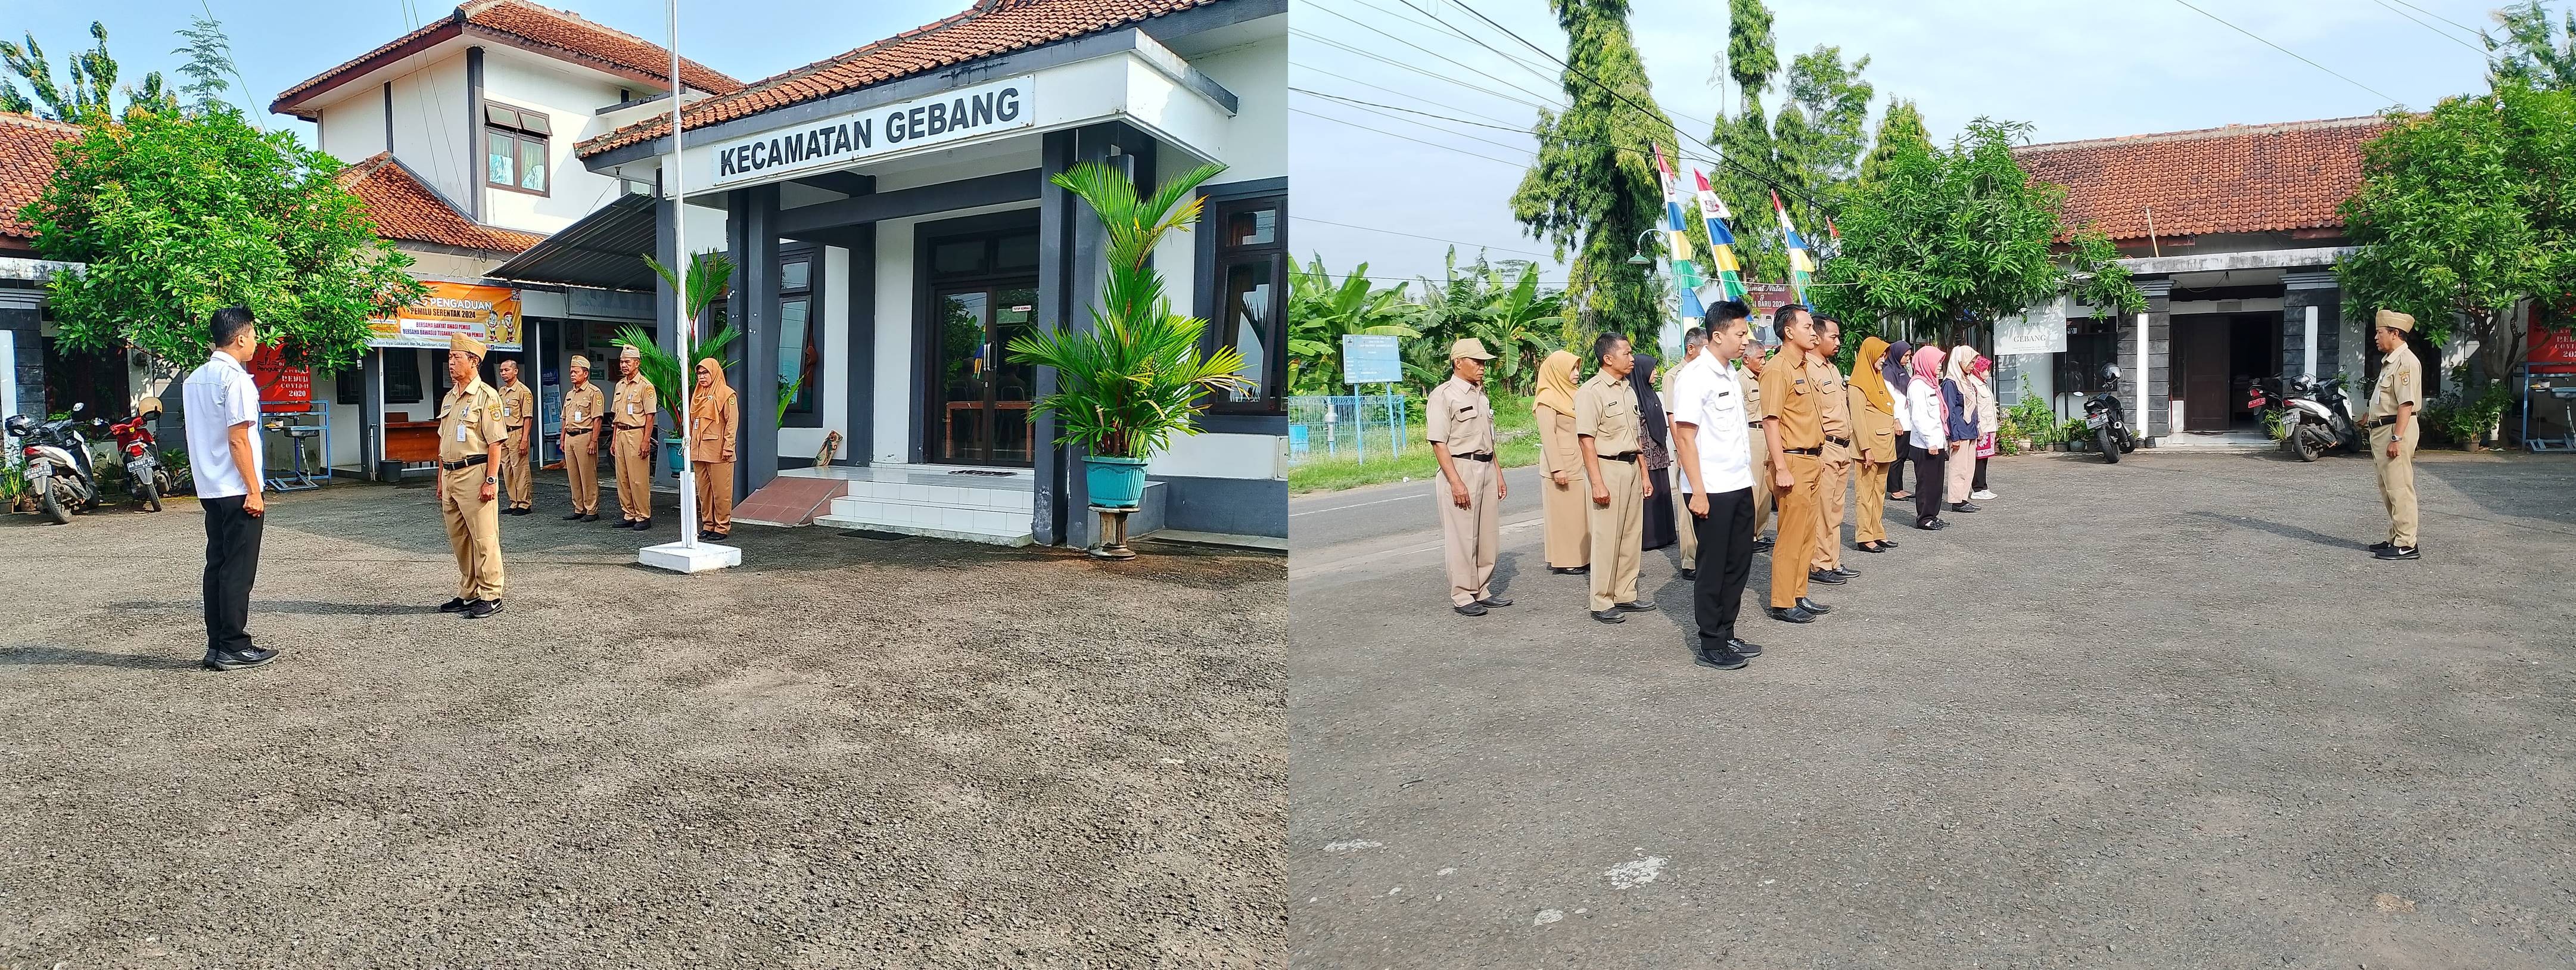
M 1427 512 L 1306 499 L 1291 960 L 2576 965 L 2576 461 L 2419 481 L 2380 563 L 2360 458 L 2002 461 L 1744 672 L 1669 553 L 1605 628 L 1522 527 L 1466 620 Z

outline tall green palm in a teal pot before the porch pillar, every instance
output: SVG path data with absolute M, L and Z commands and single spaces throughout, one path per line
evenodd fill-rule
M 1172 311 L 1162 273 L 1146 260 L 1172 229 L 1198 221 L 1193 190 L 1224 172 L 1203 165 L 1151 196 L 1139 196 L 1123 170 L 1074 165 L 1054 178 L 1100 216 L 1108 234 L 1108 280 L 1090 329 L 1043 329 L 1012 337 L 1010 355 L 1056 371 L 1056 394 L 1033 407 L 1064 427 L 1056 445 L 1079 445 L 1092 504 L 1133 509 L 1144 502 L 1144 463 L 1172 435 L 1198 435 L 1200 399 L 1252 389 L 1234 347 L 1198 352 L 1206 319 Z

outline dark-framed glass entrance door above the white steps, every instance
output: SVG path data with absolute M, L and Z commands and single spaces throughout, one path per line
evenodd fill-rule
M 1028 466 L 1036 368 L 1010 363 L 1010 340 L 1038 322 L 1036 286 L 969 286 L 938 293 L 933 376 L 935 461 Z

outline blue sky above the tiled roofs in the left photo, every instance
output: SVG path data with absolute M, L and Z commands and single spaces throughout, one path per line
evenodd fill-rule
M 739 80 L 757 80 L 945 18 L 969 3 L 683 0 L 680 54 Z M 659 0 L 551 0 L 546 5 L 654 44 L 670 36 Z M 435 21 L 456 13 L 453 3 L 435 5 L 430 0 L 417 0 L 410 8 L 402 0 L 0 0 L 0 36 L 21 41 L 33 31 L 36 44 L 44 44 L 46 59 L 54 62 L 59 82 L 64 57 L 75 49 L 90 49 L 90 21 L 100 21 L 108 26 L 108 54 L 116 54 L 118 62 L 118 85 L 129 85 L 155 69 L 170 77 L 180 62 L 170 54 L 180 46 L 175 31 L 209 8 L 216 21 L 224 21 L 234 62 L 250 82 L 250 98 L 242 98 L 242 90 L 229 95 L 234 103 L 247 100 L 260 113 L 281 90 L 410 33 L 422 18 Z M 301 129 L 307 139 L 312 136 L 309 124 L 276 116 L 265 121 L 270 126 L 289 124 Z

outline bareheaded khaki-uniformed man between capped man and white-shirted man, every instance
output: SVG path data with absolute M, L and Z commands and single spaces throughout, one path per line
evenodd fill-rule
M 1638 404 L 1628 383 L 1628 337 L 1600 334 L 1592 342 L 1600 371 L 1574 391 L 1574 435 L 1592 476 L 1592 618 L 1625 623 L 1628 612 L 1654 610 L 1636 599 L 1636 571 L 1643 551 L 1643 504 L 1654 481 L 1638 468 Z

